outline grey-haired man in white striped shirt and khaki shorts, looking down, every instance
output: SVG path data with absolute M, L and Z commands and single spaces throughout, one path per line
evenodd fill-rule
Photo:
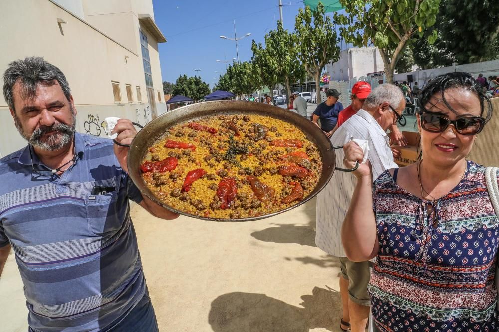
M 389 139 L 385 131 L 395 124 L 405 108 L 402 91 L 392 84 L 383 84 L 366 98 L 363 108 L 340 126 L 331 142 L 341 146 L 352 139 L 366 140 L 373 176 L 376 179 L 385 170 L 397 167 L 393 161 Z M 343 150 L 336 150 L 336 167 L 343 166 Z M 352 262 L 346 258 L 341 243 L 341 225 L 348 211 L 356 179 L 352 173 L 335 171 L 331 181 L 317 195 L 317 225 L 315 243 L 330 255 L 339 257 L 343 278 L 340 293 L 343 331 L 364 331 L 371 301 L 367 293 L 370 278 L 370 262 Z

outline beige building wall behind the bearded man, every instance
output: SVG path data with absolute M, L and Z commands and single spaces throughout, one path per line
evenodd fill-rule
M 88 2 L 83 3 L 88 5 Z M 58 18 L 66 23 L 58 24 Z M 144 125 L 152 119 L 152 107 L 147 103 L 138 19 L 129 25 L 134 26 L 138 53 L 52 1 L 3 1 L 0 4 L 0 42 L 8 52 L 0 53 L 0 72 L 3 74 L 13 60 L 43 56 L 66 75 L 78 112 L 79 132 L 105 136 L 103 120 L 108 116 L 129 118 Z M 155 39 L 150 34 L 148 39 L 152 44 L 149 52 L 156 97 L 153 102 L 159 115 L 166 111 L 163 98 L 157 103 L 157 90 L 163 95 L 159 53 Z M 114 101 L 111 81 L 119 82 L 121 102 Z M 127 100 L 125 84 L 132 86 L 131 103 Z M 137 86 L 141 90 L 141 102 L 137 100 Z M 0 157 L 26 145 L 14 127 L 3 94 L 0 96 L 0 123 Z

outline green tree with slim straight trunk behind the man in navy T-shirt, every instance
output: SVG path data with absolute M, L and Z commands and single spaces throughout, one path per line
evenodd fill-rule
M 337 44 L 340 39 L 321 2 L 315 10 L 309 6 L 305 6 L 304 10 L 300 8 L 294 27 L 298 58 L 305 70 L 315 78 L 317 103 L 320 103 L 320 74 L 329 61 L 338 61 L 340 48 Z

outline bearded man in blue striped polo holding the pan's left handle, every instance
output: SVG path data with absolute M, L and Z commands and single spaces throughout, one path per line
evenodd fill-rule
M 131 199 L 159 218 L 178 215 L 142 197 L 127 148 L 75 132 L 64 74 L 43 58 L 14 61 L 3 94 L 28 145 L 0 160 L 0 273 L 12 247 L 30 331 L 158 331 Z M 130 144 L 120 120 L 116 141 Z

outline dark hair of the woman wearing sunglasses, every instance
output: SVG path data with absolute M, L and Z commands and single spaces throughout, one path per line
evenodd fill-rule
M 430 102 L 430 99 L 434 95 L 440 94 L 440 99 L 445 103 L 449 110 L 457 114 L 456 110 L 449 105 L 444 96 L 446 90 L 454 88 L 466 89 L 475 94 L 480 100 L 480 116 L 485 118 L 486 123 L 491 119 L 492 104 L 486 96 L 483 87 L 469 73 L 463 72 L 439 75 L 428 82 L 419 95 L 419 113 L 421 114 L 426 110 L 425 105 Z M 486 108 L 487 110 L 485 110 Z M 486 111 L 487 114 L 484 115 L 484 112 Z

